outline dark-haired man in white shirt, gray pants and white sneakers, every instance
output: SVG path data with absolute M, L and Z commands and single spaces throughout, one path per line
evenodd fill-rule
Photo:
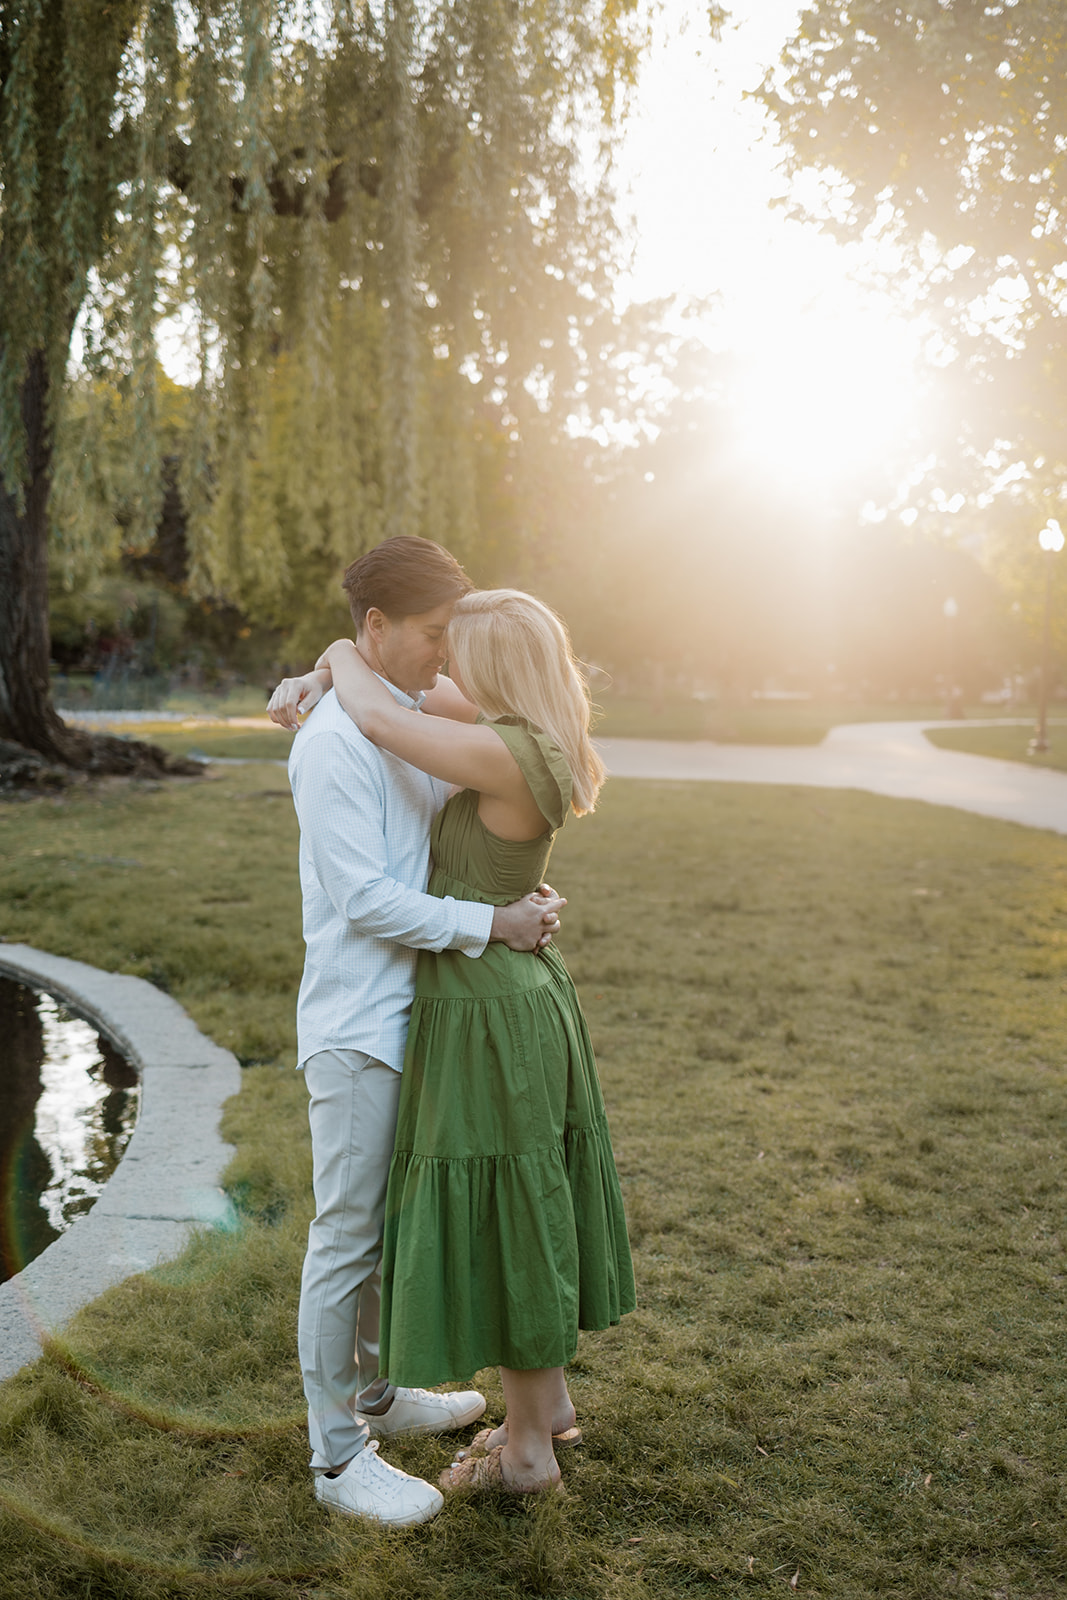
M 394 538 L 355 562 L 344 587 L 357 650 L 400 704 L 418 709 L 445 664 L 466 573 L 429 539 Z M 270 701 L 288 726 L 299 685 L 286 680 Z M 563 902 L 545 893 L 493 907 L 426 894 L 430 826 L 448 786 L 365 739 L 333 691 L 293 741 L 290 779 L 307 946 L 298 1066 L 310 1096 L 317 1213 L 299 1310 L 315 1493 L 403 1526 L 434 1517 L 443 1498 L 384 1462 L 370 1435 L 443 1432 L 485 1411 L 475 1390 L 397 1389 L 378 1376 L 386 1181 L 416 952 L 477 958 L 491 939 L 534 950 Z

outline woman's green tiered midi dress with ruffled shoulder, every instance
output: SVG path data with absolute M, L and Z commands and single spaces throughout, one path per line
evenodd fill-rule
M 434 824 L 429 888 L 506 906 L 544 880 L 571 774 L 528 723 L 491 726 L 545 834 L 498 838 L 466 789 Z M 386 1202 L 382 1373 L 438 1384 L 565 1366 L 579 1328 L 633 1306 L 597 1064 L 561 955 L 421 954 Z

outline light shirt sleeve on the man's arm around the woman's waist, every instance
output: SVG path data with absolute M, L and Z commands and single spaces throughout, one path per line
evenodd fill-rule
M 421 894 L 389 875 L 381 774 L 333 733 L 312 739 L 291 770 L 301 838 L 338 912 L 362 933 L 414 950 L 482 955 L 493 907 Z

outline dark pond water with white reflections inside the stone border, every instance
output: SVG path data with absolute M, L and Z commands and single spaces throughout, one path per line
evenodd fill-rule
M 85 1216 L 139 1102 L 134 1067 L 90 1022 L 0 978 L 0 1282 Z

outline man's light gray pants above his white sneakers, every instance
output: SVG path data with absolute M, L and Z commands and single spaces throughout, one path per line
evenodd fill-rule
M 400 1074 L 360 1050 L 304 1062 L 310 1096 L 315 1221 L 301 1278 L 299 1352 L 312 1467 L 366 1445 L 355 1402 L 378 1378 L 386 1182 Z

